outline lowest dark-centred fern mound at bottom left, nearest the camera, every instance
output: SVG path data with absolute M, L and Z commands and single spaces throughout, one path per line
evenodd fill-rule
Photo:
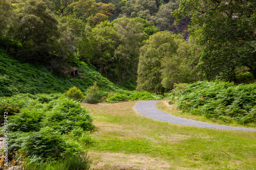
M 20 153 L 30 158 L 31 162 L 44 162 L 54 160 L 67 152 L 69 154 L 81 153 L 78 145 L 70 145 L 59 132 L 46 127 L 38 132 L 28 133 L 23 140 Z

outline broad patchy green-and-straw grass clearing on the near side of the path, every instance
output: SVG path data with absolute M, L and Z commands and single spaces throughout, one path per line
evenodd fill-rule
M 136 103 L 83 105 L 97 127 L 88 148 L 95 169 L 256 169 L 255 132 L 159 122 Z

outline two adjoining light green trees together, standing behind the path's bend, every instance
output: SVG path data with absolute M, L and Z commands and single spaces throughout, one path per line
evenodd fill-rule
M 140 48 L 137 90 L 164 94 L 174 83 L 198 80 L 197 52 L 180 35 L 158 32 Z

